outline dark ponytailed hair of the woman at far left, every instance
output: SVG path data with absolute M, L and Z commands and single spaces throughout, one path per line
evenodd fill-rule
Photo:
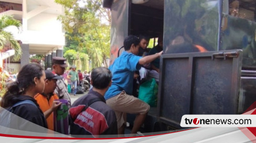
M 36 63 L 23 66 L 22 69 L 19 70 L 16 81 L 7 85 L 7 91 L 0 105 L 3 108 L 7 108 L 17 103 L 19 101 L 18 96 L 24 94 L 29 87 L 35 85 L 34 78 L 37 77 L 40 79 L 42 71 L 44 71 L 44 69 Z

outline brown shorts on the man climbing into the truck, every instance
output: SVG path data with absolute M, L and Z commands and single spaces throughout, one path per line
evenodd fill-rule
M 125 113 L 146 114 L 150 110 L 150 105 L 134 96 L 126 94 L 125 91 L 106 100 L 106 104 L 115 111 L 118 128 L 126 123 Z

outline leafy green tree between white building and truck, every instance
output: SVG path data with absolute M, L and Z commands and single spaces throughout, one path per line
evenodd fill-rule
M 55 2 L 65 7 L 65 15 L 58 19 L 66 30 L 64 56 L 73 60 L 69 63 L 82 64 L 86 70 L 106 63 L 110 55 L 110 10 L 102 7 L 101 0 Z M 103 19 L 107 23 L 103 23 Z M 79 55 L 76 59 L 71 56 L 74 52 Z

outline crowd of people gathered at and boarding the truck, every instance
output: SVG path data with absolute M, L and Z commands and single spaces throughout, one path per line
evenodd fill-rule
M 83 74 L 80 70 L 76 71 L 75 66 L 65 73 L 68 65 L 63 57 L 52 58 L 52 71 L 44 70 L 35 63 L 23 66 L 17 80 L 8 85 L 0 105 L 8 111 L 12 109 L 12 113 L 25 120 L 54 130 L 53 112 L 61 104 L 56 100 L 65 99 L 68 101 L 70 134 L 93 137 L 124 134 L 126 113 L 136 114 L 131 130 L 131 134 L 136 134 L 144 123 L 150 105 L 132 96 L 135 71 L 144 67 L 148 73 L 151 73 L 151 70 L 159 73 L 159 63 L 158 67 L 155 63 L 163 53 L 161 41 L 152 50 L 146 51 L 148 41 L 146 37 L 126 37 L 125 51 L 115 59 L 109 69 L 92 69 L 92 88 L 86 96 L 80 97 L 72 105 L 68 84 L 74 87 L 71 92 L 76 94 L 77 85 L 89 74 L 87 71 Z M 142 56 L 140 51 L 148 54 L 143 53 Z M 147 65 L 150 63 L 151 66 Z M 147 78 L 145 73 L 140 75 L 143 75 L 141 79 Z M 66 82 L 65 79 L 70 81 Z

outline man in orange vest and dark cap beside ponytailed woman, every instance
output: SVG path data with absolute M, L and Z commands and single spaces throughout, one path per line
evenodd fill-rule
M 54 113 L 59 106 L 60 102 L 54 101 L 59 99 L 57 94 L 54 93 L 56 88 L 56 82 L 58 79 L 63 77 L 54 75 L 50 70 L 45 70 L 46 80 L 45 80 L 45 89 L 44 93 L 38 93 L 35 96 L 39 108 L 44 112 L 48 128 L 54 130 Z

